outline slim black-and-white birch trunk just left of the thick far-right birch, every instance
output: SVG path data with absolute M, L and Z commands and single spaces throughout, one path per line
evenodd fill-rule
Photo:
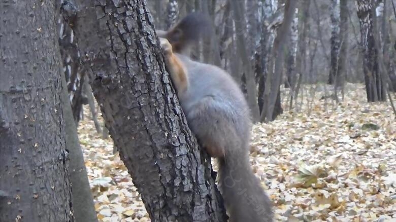
M 330 38 L 330 73 L 328 84 L 334 84 L 338 79 L 338 58 L 340 52 L 340 0 L 332 0 L 331 7 L 332 37 Z

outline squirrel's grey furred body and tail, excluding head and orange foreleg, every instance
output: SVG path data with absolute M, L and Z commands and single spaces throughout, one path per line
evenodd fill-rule
M 176 54 L 188 73 L 179 93 L 188 125 L 203 146 L 224 149 L 220 189 L 230 221 L 273 221 L 272 203 L 249 164 L 250 111 L 238 84 L 219 67 Z

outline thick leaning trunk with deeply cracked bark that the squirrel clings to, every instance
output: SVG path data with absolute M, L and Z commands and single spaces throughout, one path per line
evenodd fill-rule
M 224 221 L 210 161 L 164 75 L 145 1 L 77 2 L 93 93 L 151 220 Z

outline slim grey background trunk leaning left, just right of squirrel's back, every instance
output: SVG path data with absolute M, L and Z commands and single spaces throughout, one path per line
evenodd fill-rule
M 232 1 L 230 0 L 230 6 L 233 10 L 233 18 L 235 22 L 236 29 L 236 41 L 237 41 L 237 51 L 243 64 L 243 69 L 246 78 L 246 90 L 247 90 L 247 101 L 252 112 L 253 121 L 259 120 L 259 109 L 257 103 L 257 90 L 256 83 L 253 73 L 252 63 L 249 59 L 248 49 L 246 48 L 246 42 L 244 38 L 244 33 L 246 31 L 246 22 L 243 17 L 242 1 Z

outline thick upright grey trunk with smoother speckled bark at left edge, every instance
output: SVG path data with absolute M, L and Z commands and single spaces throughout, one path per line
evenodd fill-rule
M 0 221 L 73 221 L 54 4 L 1 5 Z

